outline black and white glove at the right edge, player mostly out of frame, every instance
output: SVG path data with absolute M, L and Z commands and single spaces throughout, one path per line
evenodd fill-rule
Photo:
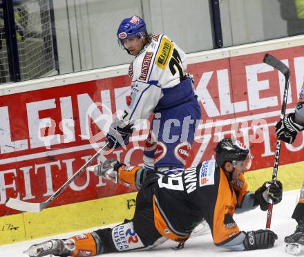
M 289 144 L 292 144 L 296 139 L 296 134 L 304 129 L 304 126 L 294 122 L 294 115 L 295 113 L 289 113 L 276 124 L 276 136 Z

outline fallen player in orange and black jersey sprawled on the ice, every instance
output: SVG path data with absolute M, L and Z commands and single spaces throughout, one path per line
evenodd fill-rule
M 26 254 L 95 256 L 151 249 L 168 239 L 178 242 L 182 249 L 203 219 L 218 247 L 231 251 L 271 248 L 277 239 L 273 231 L 241 231 L 234 220 L 236 212 L 258 206 L 266 211 L 269 198 L 274 204 L 282 199 L 282 184 L 278 180 L 265 182 L 255 193 L 247 191 L 243 172 L 250 162 L 249 149 L 231 139 L 218 143 L 215 160 L 174 175 L 106 160 L 93 168 L 95 174 L 139 190 L 132 220 L 64 240 L 48 240 L 33 245 Z

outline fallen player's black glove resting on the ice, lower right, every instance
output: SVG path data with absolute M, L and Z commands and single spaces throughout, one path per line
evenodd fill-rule
M 267 249 L 274 247 L 274 241 L 278 236 L 269 229 L 259 229 L 257 231 L 248 231 L 244 240 L 246 250 Z

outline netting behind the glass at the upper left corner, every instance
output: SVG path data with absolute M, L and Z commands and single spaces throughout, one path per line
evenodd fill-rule
M 50 6 L 48 0 L 21 1 L 14 6 L 21 80 L 55 73 Z M 0 13 L 0 83 L 10 82 L 3 12 Z

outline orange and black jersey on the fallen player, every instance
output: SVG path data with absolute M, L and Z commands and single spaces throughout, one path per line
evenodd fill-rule
M 216 160 L 209 160 L 178 175 L 163 176 L 157 183 L 154 220 L 162 236 L 184 242 L 203 218 L 216 245 L 240 234 L 233 216 L 249 193 L 243 174 L 231 181 Z

